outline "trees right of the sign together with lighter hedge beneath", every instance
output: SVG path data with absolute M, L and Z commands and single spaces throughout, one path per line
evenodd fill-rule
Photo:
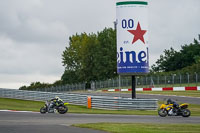
M 151 66 L 150 74 L 200 72 L 200 43 L 196 39 L 189 45 L 182 45 L 180 51 L 176 51 L 171 47 L 164 50 L 163 53 Z

